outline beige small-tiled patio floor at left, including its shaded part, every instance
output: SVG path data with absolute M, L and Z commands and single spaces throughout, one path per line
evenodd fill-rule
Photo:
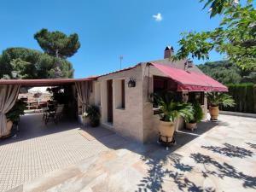
M 99 138 L 117 137 L 102 128 L 87 130 Z M 0 191 L 108 150 L 93 138 L 76 122 L 46 126 L 41 114 L 23 116 L 17 137 L 0 141 Z

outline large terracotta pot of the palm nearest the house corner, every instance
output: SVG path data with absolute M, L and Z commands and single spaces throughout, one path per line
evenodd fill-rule
M 172 142 L 172 137 L 175 131 L 174 123 L 170 121 L 160 120 L 158 129 L 160 131 L 160 140 L 163 142 Z

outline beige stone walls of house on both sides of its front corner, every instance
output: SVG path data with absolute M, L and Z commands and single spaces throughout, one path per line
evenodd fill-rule
M 159 117 L 153 114 L 153 105 L 149 100 L 153 92 L 154 75 L 166 77 L 153 66 L 150 66 L 148 77 L 148 66 L 144 63 L 129 70 L 102 76 L 94 82 L 90 101 L 101 108 L 102 125 L 141 143 L 155 142 L 158 138 Z M 130 78 L 136 79 L 136 87 L 128 87 Z M 107 80 L 109 79 L 113 80 L 113 124 L 108 123 Z M 119 108 L 121 79 L 125 79 L 125 108 Z M 207 111 L 206 106 L 204 111 Z M 176 130 L 181 128 L 183 128 L 182 118 L 176 120 Z

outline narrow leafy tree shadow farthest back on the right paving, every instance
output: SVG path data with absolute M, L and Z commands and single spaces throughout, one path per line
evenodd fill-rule
M 253 152 L 247 150 L 246 148 L 240 148 L 229 143 L 224 143 L 224 147 L 218 146 L 201 146 L 201 148 L 206 148 L 214 153 L 224 154 L 228 157 L 238 157 L 238 158 L 246 158 L 247 156 L 252 157 Z

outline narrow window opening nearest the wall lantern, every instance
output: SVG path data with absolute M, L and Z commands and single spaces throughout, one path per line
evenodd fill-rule
M 115 83 L 115 108 L 125 108 L 125 79 L 116 79 Z

